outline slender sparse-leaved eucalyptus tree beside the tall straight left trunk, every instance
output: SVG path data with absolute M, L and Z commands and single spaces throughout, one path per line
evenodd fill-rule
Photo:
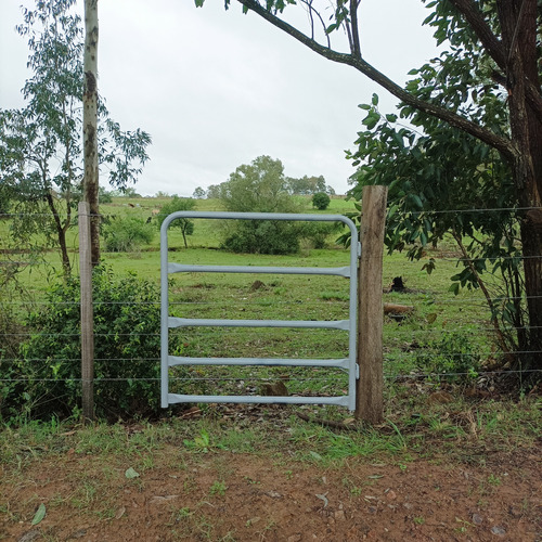
M 28 39 L 31 72 L 22 90 L 25 106 L 0 109 L 0 172 L 12 188 L 13 234 L 25 244 L 44 235 L 60 249 L 66 274 L 66 233 L 82 191 L 83 30 L 75 3 L 40 0 L 35 10 L 23 9 L 16 30 Z M 151 137 L 122 131 L 103 101 L 98 116 L 100 164 L 124 189 L 141 173 Z

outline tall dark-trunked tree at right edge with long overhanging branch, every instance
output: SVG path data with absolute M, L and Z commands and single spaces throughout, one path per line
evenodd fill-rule
M 351 66 L 367 76 L 423 121 L 444 121 L 500 153 L 508 165 L 520 214 L 520 240 L 524 256 L 525 292 L 530 327 L 529 366 L 542 369 L 542 92 L 540 78 L 540 39 L 542 7 L 538 0 L 433 0 L 425 21 L 435 28 L 439 43 L 447 43 L 447 65 L 455 74 L 468 63 L 485 65 L 489 78 L 501 89 L 506 103 L 506 130 L 495 129 L 491 118 L 472 118 L 455 99 L 446 95 L 449 81 L 439 85 L 420 81 L 420 91 L 401 87 L 376 69 L 362 55 L 359 31 L 359 0 L 237 0 L 251 11 L 292 36 L 317 54 Z M 426 1 L 426 0 L 422 0 Z M 203 0 L 196 0 L 202 5 Z M 230 0 L 227 0 L 227 7 Z M 289 9 L 305 9 L 307 28 L 293 26 L 284 18 Z M 327 10 L 327 11 L 325 11 Z M 324 12 L 325 11 L 325 12 Z M 344 30 L 348 50 L 332 47 L 333 33 Z M 446 75 L 446 74 L 441 74 Z M 478 81 L 485 83 L 486 81 Z M 472 81 L 469 81 L 472 83 Z M 468 91 L 468 89 L 467 89 Z M 423 120 L 425 119 L 425 120 Z M 423 121 L 422 121 L 423 120 Z

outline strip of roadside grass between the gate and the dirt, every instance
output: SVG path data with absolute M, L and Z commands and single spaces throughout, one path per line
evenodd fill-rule
M 411 393 L 412 395 L 412 393 Z M 412 397 L 411 397 L 412 398 Z M 300 463 L 340 464 L 347 457 L 393 457 L 397 464 L 408 464 L 413 456 L 465 460 L 468 454 L 483 460 L 483 450 L 504 453 L 527 450 L 540 437 L 542 411 L 540 399 L 485 401 L 469 403 L 457 397 L 447 405 L 428 405 L 424 395 L 415 395 L 409 404 L 405 397 L 387 403 L 386 422 L 375 428 L 336 431 L 319 424 L 309 424 L 293 415 L 294 406 L 254 408 L 259 417 L 255 423 L 250 409 L 240 408 L 238 416 L 228 421 L 228 408 L 208 406 L 198 420 L 168 417 L 154 424 L 105 424 L 82 427 L 73 422 L 47 424 L 23 423 L 0 433 L 0 463 L 9 466 L 11 476 L 26 476 L 27 467 L 46 457 L 60 460 L 70 454 L 87 456 L 102 464 L 105 478 L 121 478 L 127 468 L 138 473 L 152 470 L 167 446 L 175 446 L 181 455 L 199 456 L 202 461 L 224 451 L 262 456 L 289 457 Z M 306 412 L 325 413 L 325 408 L 306 406 Z M 423 414 L 415 417 L 416 412 Z M 244 413 L 243 413 L 244 412 Z M 224 417 L 225 414 L 225 417 Z M 333 416 L 333 413 L 330 413 Z M 289 460 L 288 460 L 289 461 Z M 180 460 L 177 466 L 183 469 Z M 293 465 L 293 464 L 292 464 Z M 292 477 L 293 466 L 285 470 Z M 227 469 L 227 463 L 223 465 Z M 288 474 L 289 473 L 289 474 Z M 227 470 L 223 470 L 227 474 Z M 78 500 L 93 499 L 98 491 L 85 473 Z M 137 478 L 133 479 L 137 482 Z M 221 494 L 223 479 L 214 481 L 211 493 Z M 486 482 L 498 486 L 501 479 L 489 474 Z M 85 496 L 85 499 L 83 499 Z

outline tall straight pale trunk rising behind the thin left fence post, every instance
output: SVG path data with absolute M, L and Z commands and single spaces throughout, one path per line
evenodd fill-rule
M 100 262 L 100 208 L 98 167 L 98 0 L 85 0 L 85 197 L 90 205 L 92 264 Z

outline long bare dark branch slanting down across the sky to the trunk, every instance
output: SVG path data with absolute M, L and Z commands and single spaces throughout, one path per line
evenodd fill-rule
M 440 118 L 441 120 L 448 122 L 450 126 L 459 128 L 469 133 L 470 136 L 474 136 L 480 141 L 483 141 L 488 145 L 496 149 L 508 160 L 515 159 L 517 150 L 508 139 L 496 136 L 491 130 L 488 130 L 475 122 L 472 122 L 465 117 L 462 117 L 461 115 L 457 115 L 456 113 L 450 109 L 441 107 L 440 105 L 426 102 L 424 100 L 420 100 L 418 98 L 411 94 L 402 87 L 393 82 L 382 72 L 378 72 L 371 64 L 365 62 L 361 56 L 356 57 L 352 54 L 339 53 L 331 48 L 320 44 L 314 39 L 309 38 L 294 26 L 279 18 L 276 15 L 273 15 L 271 12 L 267 11 L 262 5 L 258 3 L 257 0 L 237 0 L 237 1 L 246 9 L 255 12 L 257 15 L 264 18 L 276 28 L 288 34 L 293 38 L 297 39 L 304 46 L 311 49 L 321 56 L 330 61 L 337 62 L 339 64 L 347 64 L 349 66 L 352 66 L 358 72 L 362 73 L 363 75 L 365 75 L 366 77 L 378 83 L 380 87 L 386 89 L 388 92 L 393 94 L 396 98 L 398 98 L 405 104 L 411 105 L 412 107 L 422 111 L 424 113 L 428 113 L 429 115 L 433 115 L 437 118 Z

